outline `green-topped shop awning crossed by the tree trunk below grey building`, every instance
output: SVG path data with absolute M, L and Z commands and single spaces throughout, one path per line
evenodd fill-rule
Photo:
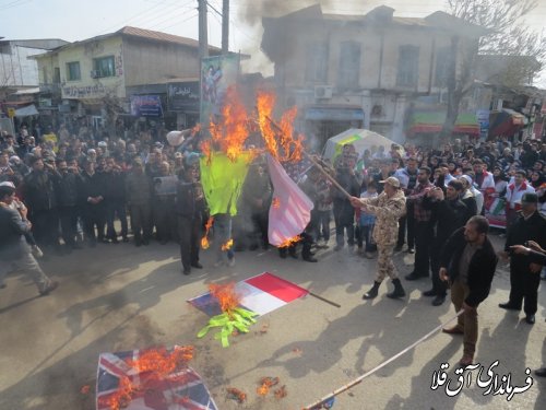
M 439 133 L 446 122 L 446 112 L 414 112 L 410 117 L 408 136 L 417 133 Z M 479 136 L 479 124 L 475 114 L 459 114 L 453 133 Z

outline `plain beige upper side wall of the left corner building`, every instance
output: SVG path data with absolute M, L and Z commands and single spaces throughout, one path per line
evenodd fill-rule
M 123 39 L 126 86 L 199 77 L 198 50 L 176 44 Z

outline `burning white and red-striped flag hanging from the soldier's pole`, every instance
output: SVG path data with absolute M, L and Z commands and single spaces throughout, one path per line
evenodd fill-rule
M 313 203 L 271 155 L 268 155 L 268 167 L 273 198 L 277 199 L 270 208 L 268 236 L 270 244 L 286 246 L 306 229 Z

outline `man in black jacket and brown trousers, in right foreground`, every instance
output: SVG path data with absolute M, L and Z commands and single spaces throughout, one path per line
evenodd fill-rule
M 497 256 L 487 237 L 489 223 L 482 215 L 472 216 L 464 227 L 450 236 L 440 258 L 440 279 L 451 284 L 451 302 L 459 313 L 456 326 L 443 329 L 449 335 L 464 335 L 462 366 L 472 364 L 478 337 L 477 307 L 486 300 L 497 268 Z

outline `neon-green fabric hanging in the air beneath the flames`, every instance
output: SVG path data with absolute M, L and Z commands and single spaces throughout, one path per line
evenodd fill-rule
M 237 200 L 247 177 L 250 160 L 249 152 L 241 153 L 235 162 L 221 152 L 213 152 L 210 159 L 200 159 L 201 184 L 211 215 L 237 214 Z

